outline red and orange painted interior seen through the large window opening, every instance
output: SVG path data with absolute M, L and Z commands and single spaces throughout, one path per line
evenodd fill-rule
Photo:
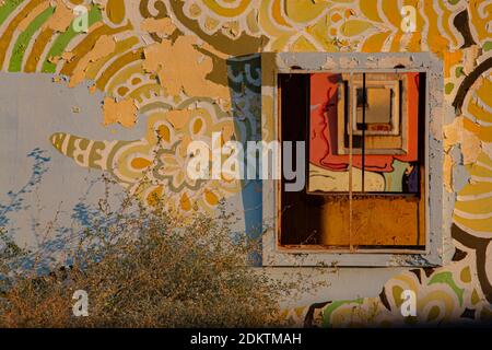
M 425 248 L 424 86 L 411 71 L 279 74 L 282 140 L 307 143 L 281 245 Z

